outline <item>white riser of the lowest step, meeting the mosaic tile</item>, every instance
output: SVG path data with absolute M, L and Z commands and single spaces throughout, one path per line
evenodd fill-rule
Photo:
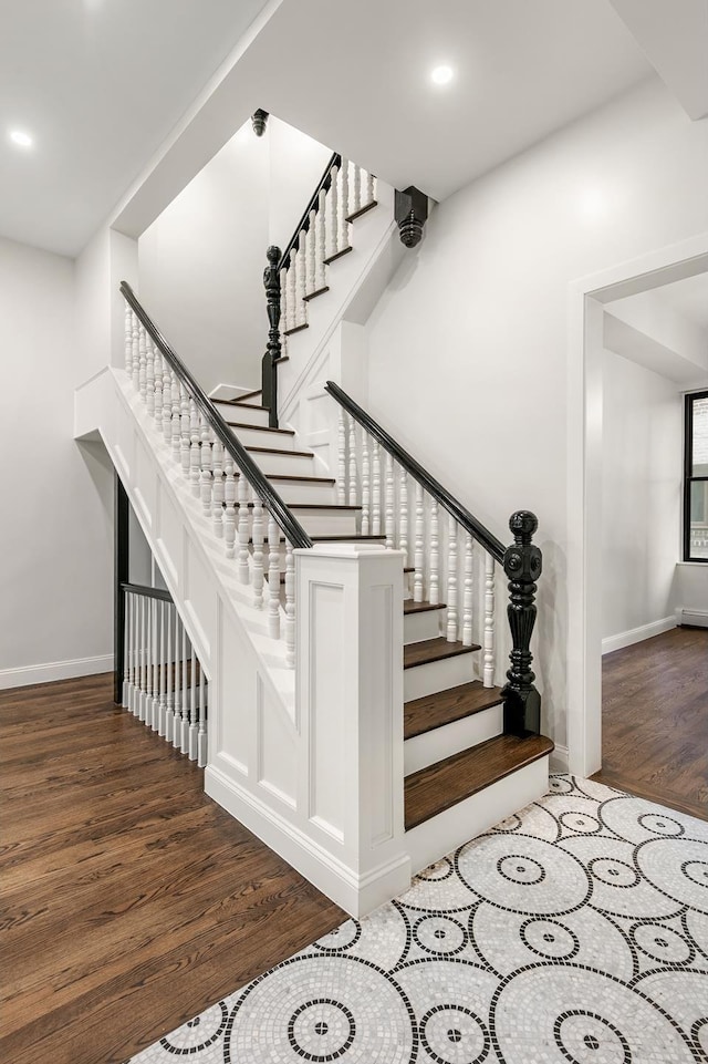
M 419 872 L 457 849 L 461 839 L 476 838 L 512 813 L 537 802 L 546 793 L 548 786 L 546 755 L 406 831 L 413 872 Z

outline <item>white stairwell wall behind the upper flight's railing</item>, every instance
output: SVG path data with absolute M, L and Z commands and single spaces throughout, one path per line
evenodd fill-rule
M 260 385 L 263 269 L 284 248 L 331 152 L 272 117 L 248 122 L 147 229 L 140 302 L 206 391 Z

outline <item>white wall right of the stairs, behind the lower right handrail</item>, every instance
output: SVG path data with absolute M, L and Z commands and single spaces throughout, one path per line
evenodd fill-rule
M 560 744 L 569 282 L 708 229 L 707 134 L 644 83 L 445 200 L 368 326 L 374 416 L 500 538 L 539 516 L 534 668 Z

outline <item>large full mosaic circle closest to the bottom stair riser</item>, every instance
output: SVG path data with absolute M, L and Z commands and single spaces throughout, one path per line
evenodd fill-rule
M 581 906 L 590 895 L 587 872 L 563 849 L 514 835 L 486 836 L 458 853 L 457 867 L 470 890 L 501 909 L 552 916 Z

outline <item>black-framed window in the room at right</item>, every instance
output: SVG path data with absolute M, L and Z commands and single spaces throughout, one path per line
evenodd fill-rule
M 708 562 L 708 392 L 686 396 L 684 561 Z

